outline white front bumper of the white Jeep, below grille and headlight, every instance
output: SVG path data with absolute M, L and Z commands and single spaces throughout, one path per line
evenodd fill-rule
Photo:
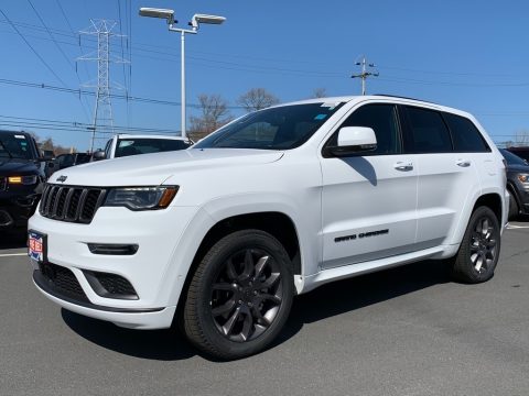
M 52 220 L 35 213 L 29 228 L 46 234 L 47 261 L 75 276 L 86 300 L 71 298 L 50 287 L 35 262 L 34 284 L 47 298 L 80 315 L 128 328 L 168 328 L 191 265 L 179 246 L 182 248 L 184 231 L 196 213 L 196 207 L 154 211 L 101 207 L 89 224 Z M 88 248 L 91 243 L 139 248 L 134 254 L 95 254 Z M 101 295 L 90 284 L 89 273 L 115 274 L 127 279 L 138 298 Z

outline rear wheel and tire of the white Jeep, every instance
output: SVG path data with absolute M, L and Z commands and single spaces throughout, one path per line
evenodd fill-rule
M 450 263 L 455 280 L 477 284 L 494 276 L 501 245 L 499 222 L 488 207 L 478 207 L 471 216 L 460 250 Z

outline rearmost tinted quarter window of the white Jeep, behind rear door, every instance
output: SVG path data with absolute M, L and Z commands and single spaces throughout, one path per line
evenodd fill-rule
M 454 151 L 465 153 L 483 153 L 489 152 L 485 140 L 474 125 L 474 123 L 460 116 L 443 113 L 450 131 L 452 132 L 452 139 L 454 140 Z

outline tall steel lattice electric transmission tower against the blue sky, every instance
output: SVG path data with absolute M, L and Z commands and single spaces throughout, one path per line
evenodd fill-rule
M 90 153 L 94 152 L 94 141 L 97 133 L 114 133 L 114 113 L 110 101 L 110 89 L 123 89 L 118 84 L 110 82 L 110 64 L 128 63 L 128 61 L 110 54 L 110 41 L 112 37 L 123 35 L 114 33 L 117 22 L 108 20 L 90 20 L 91 26 L 80 34 L 97 36 L 97 50 L 90 54 L 83 55 L 77 61 L 97 61 L 96 84 L 85 84 L 84 87 L 96 88 L 96 103 L 94 106 L 94 120 L 91 125 Z

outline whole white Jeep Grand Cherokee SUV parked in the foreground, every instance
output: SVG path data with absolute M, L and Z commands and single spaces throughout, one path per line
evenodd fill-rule
M 29 226 L 33 280 L 68 310 L 134 329 L 174 319 L 236 359 L 332 280 L 424 258 L 489 279 L 505 187 L 465 112 L 385 96 L 283 105 L 190 150 L 56 173 Z

